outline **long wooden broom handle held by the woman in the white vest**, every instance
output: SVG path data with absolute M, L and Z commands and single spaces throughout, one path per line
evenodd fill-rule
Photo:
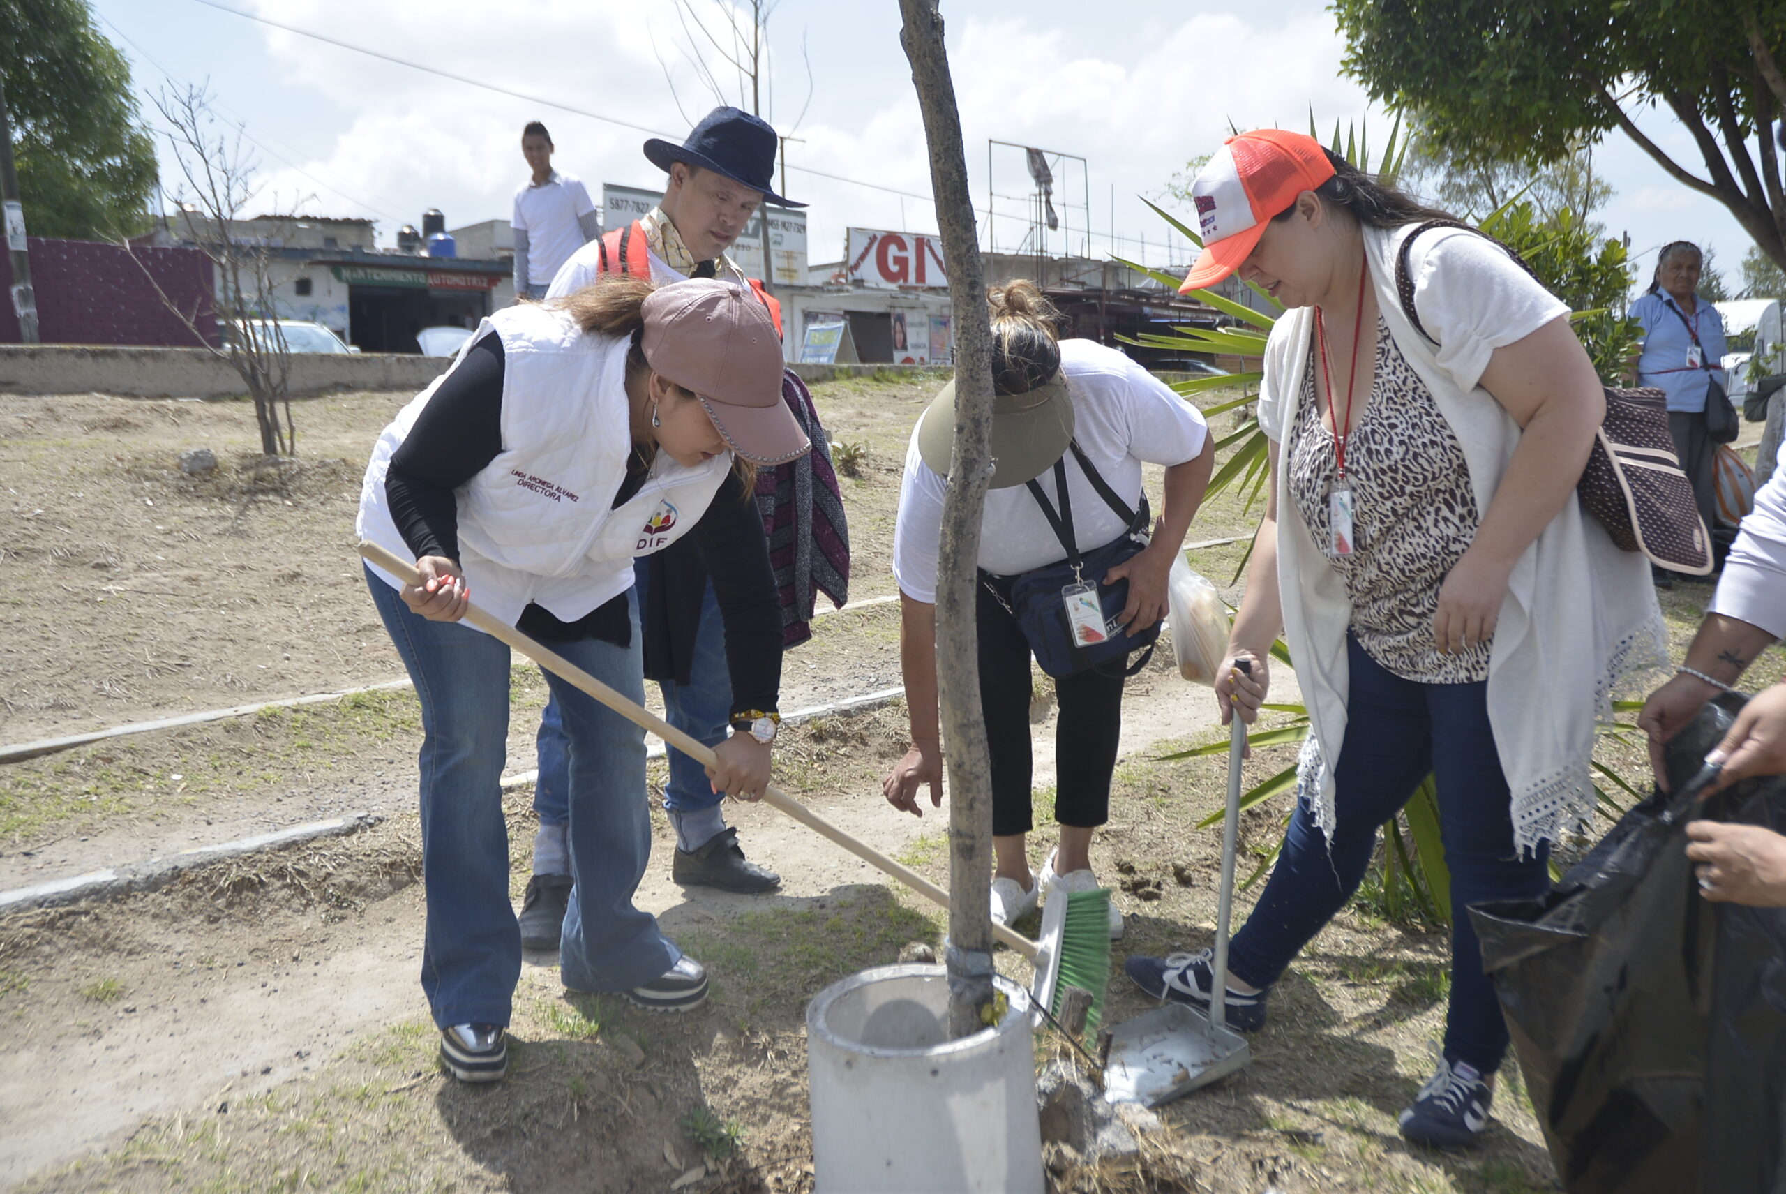
M 379 547 L 371 540 L 359 542 L 359 554 L 368 563 L 400 579 L 404 584 L 416 584 L 416 586 L 421 584 L 421 574 L 416 572 L 414 563 L 400 556 L 393 556 L 391 552 Z M 547 668 L 548 672 L 554 672 L 555 676 L 570 681 L 577 688 L 582 688 L 591 697 L 595 697 L 607 708 L 625 717 L 629 722 L 648 729 L 650 733 L 663 738 L 668 745 L 673 745 L 677 751 L 682 751 L 684 754 L 702 763 L 704 767 L 714 765 L 716 760 L 707 745 L 697 742 L 695 738 L 682 733 L 680 729 L 677 729 L 664 719 L 657 717 L 650 710 L 634 704 L 627 697 L 620 695 L 618 692 L 598 681 L 595 676 L 589 676 L 589 672 L 582 670 L 580 667 L 577 667 L 559 652 L 552 651 L 550 647 L 534 642 L 532 638 L 514 629 L 502 618 L 497 618 L 479 610 L 475 604 L 468 604 L 464 611 L 464 620 L 475 626 L 477 629 L 484 631 L 491 638 L 507 643 L 511 651 L 522 652 L 523 656 L 527 656 L 539 667 Z M 931 883 L 927 878 L 923 878 L 911 867 L 893 862 L 891 858 L 888 858 L 875 847 L 868 845 L 866 842 L 850 837 L 848 833 L 830 824 L 829 820 L 825 820 L 823 817 L 820 817 L 811 808 L 793 799 L 780 788 L 775 788 L 773 785 L 766 788 L 763 792 L 763 803 L 782 813 L 788 813 L 789 817 L 804 824 L 807 829 L 836 842 L 843 849 L 850 851 L 852 854 L 866 862 L 870 867 L 875 867 L 884 874 L 893 876 L 895 879 L 898 879 L 911 890 L 918 892 L 920 896 L 927 897 L 929 901 L 943 908 L 948 908 L 948 892 L 939 888 L 936 883 Z M 1025 958 L 1031 960 L 1036 958 L 1036 949 L 1038 949 L 1036 942 L 1023 937 L 1022 933 L 1014 933 L 1004 924 L 995 924 L 993 937 L 997 937 L 1011 949 L 1016 949 Z

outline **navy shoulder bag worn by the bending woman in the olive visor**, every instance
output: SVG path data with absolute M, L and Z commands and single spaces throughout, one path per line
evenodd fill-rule
M 1048 502 L 1048 495 L 1043 493 L 1038 481 L 1032 479 L 1027 484 L 1036 504 L 1041 506 L 1041 513 L 1048 518 L 1048 526 L 1054 527 L 1054 536 L 1066 549 L 1066 559 L 1009 577 L 995 577 L 981 572 L 981 583 L 1016 618 L 1023 629 L 1023 638 L 1029 640 L 1029 649 L 1036 654 L 1036 663 L 1048 676 L 1075 676 L 1091 668 L 1107 676 L 1134 676 L 1154 656 L 1159 622 L 1154 622 L 1145 631 L 1125 633 L 1116 618 L 1122 617 L 1123 606 L 1129 604 L 1129 581 L 1122 579 L 1114 584 L 1104 584 L 1104 574 L 1138 556 L 1147 547 L 1147 531 L 1152 526 L 1147 493 L 1141 495 L 1136 509 L 1129 509 L 1116 497 L 1116 490 L 1104 481 L 1086 458 L 1079 441 L 1068 443 L 1068 449 L 1084 470 L 1091 488 L 1097 490 L 1098 497 L 1111 509 L 1122 515 L 1129 529 L 1102 547 L 1088 552 L 1079 551 L 1079 543 L 1073 538 L 1073 504 L 1066 490 L 1066 456 L 1063 454 L 1061 459 L 1054 461 L 1054 488 L 1061 502 L 1059 511 Z M 1079 636 L 1066 615 L 1066 602 L 1063 599 L 1064 590 L 1075 584 L 1097 586 L 1104 620 L 1102 642 L 1079 645 Z M 1131 663 L 1129 656 L 1136 651 L 1141 652 L 1141 658 Z

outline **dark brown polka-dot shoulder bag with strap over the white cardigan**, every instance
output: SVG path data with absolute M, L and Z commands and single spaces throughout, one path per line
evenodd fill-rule
M 1432 343 L 1438 340 L 1432 340 L 1415 311 L 1415 279 L 1407 268 L 1407 250 L 1416 236 L 1438 227 L 1465 229 L 1495 241 L 1522 270 L 1540 281 L 1520 254 L 1481 229 L 1457 220 L 1422 223 L 1402 240 L 1395 261 L 1395 290 L 1402 300 L 1402 315 Z M 1706 397 L 1709 402 L 1711 395 Z M 1723 404 L 1729 406 L 1729 399 L 1723 399 Z M 1734 422 L 1736 411 L 1731 415 Z M 1623 551 L 1643 552 L 1663 568 L 1688 576 L 1711 572 L 1711 534 L 1698 517 L 1693 483 L 1675 456 L 1673 436 L 1668 433 L 1668 400 L 1661 390 L 1606 386 L 1606 418 L 1593 436 L 1588 465 L 1575 483 L 1575 495 L 1582 509 L 1598 518 Z

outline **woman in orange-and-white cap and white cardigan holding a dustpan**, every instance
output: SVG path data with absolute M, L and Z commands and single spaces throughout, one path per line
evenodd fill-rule
M 1270 497 L 1216 699 L 1223 722 L 1252 722 L 1282 633 L 1309 710 L 1284 851 L 1229 953 L 1229 1022 L 1263 1028 L 1377 828 L 1436 772 L 1450 1008 L 1400 1124 L 1465 1144 L 1507 1047 L 1465 908 L 1548 888 L 1550 842 L 1593 810 L 1595 713 L 1666 642 L 1647 559 L 1575 500 L 1600 379 L 1515 257 L 1311 138 L 1236 136 L 1193 197 L 1204 254 L 1184 290 L 1239 273 L 1289 307 L 1264 356 Z M 1209 1003 L 1207 949 L 1125 969 Z

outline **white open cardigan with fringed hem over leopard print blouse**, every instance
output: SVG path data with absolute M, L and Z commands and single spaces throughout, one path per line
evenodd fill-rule
M 1402 315 L 1395 254 L 1407 232 L 1365 231 L 1377 307 L 1463 445 L 1477 511 L 1486 513 L 1520 443 L 1520 425 L 1475 383 L 1475 374 L 1465 372 L 1470 383 L 1465 390 L 1452 372 L 1475 359 L 1479 374 L 1481 343 L 1434 349 Z M 1445 259 L 1434 250 L 1457 236 L 1470 234 L 1432 231 L 1415 241 L 1415 304 L 1429 329 L 1434 320 L 1422 304 L 1422 281 Z M 1456 268 L 1484 268 L 1481 254 Z M 1518 266 L 1506 261 L 1504 268 Z M 1456 281 L 1447 279 L 1448 288 L 1454 290 Z M 1259 422 L 1279 443 L 1295 425 L 1313 327 L 1311 309 L 1289 311 L 1266 345 Z M 1281 463 L 1286 458 L 1281 454 Z M 1352 602 L 1302 520 L 1286 474 L 1286 467 L 1277 470 L 1277 579 L 1284 638 L 1311 724 L 1298 760 L 1297 794 L 1309 803 L 1331 840 L 1336 815 L 1329 760 L 1340 758 L 1345 740 Z M 1595 720 L 1611 711 L 1609 699 L 1622 679 L 1666 661 L 1666 642 L 1648 559 L 1620 551 L 1570 493 L 1515 565 L 1490 649 L 1488 719 L 1513 794 L 1513 840 L 1522 853 L 1586 826 L 1595 804 L 1590 778 Z

